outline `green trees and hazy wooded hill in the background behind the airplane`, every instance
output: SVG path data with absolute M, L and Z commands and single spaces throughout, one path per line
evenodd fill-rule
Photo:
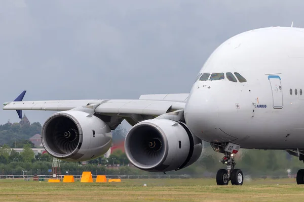
M 41 124 L 7 123 L 0 125 L 0 141 L 4 143 L 0 147 L 0 174 L 21 174 L 22 170 L 28 170 L 27 174 L 44 174 L 52 168 L 53 157 L 48 154 L 34 156 L 31 148 L 33 144 L 28 140 L 36 133 L 40 133 Z M 119 143 L 124 140 L 127 131 L 119 126 L 113 131 L 113 142 Z M 23 147 L 21 153 L 11 148 Z M 196 176 L 214 176 L 218 169 L 225 168 L 219 163 L 222 154 L 216 153 L 210 144 L 204 142 L 204 149 L 200 159 L 193 165 L 179 171 L 167 172 L 167 174 L 188 174 Z M 263 176 L 287 176 L 287 169 L 296 174 L 298 169 L 304 167 L 302 161 L 282 150 L 254 150 L 241 149 L 236 155 L 236 168 L 242 169 L 245 175 Z M 109 158 L 100 157 L 87 164 L 61 161 L 61 171 L 77 175 L 82 171 L 91 171 L 97 174 L 126 174 L 139 175 L 151 174 L 141 171 L 130 165 L 126 154 L 121 150 L 114 151 Z

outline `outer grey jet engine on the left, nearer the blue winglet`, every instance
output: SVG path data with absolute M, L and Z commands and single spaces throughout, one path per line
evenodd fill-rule
M 82 111 L 53 114 L 43 125 L 42 143 L 48 153 L 65 161 L 95 159 L 110 148 L 111 130 L 101 119 Z

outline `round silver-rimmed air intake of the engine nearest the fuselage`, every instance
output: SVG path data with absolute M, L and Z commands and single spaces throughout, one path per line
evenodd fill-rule
M 153 135 L 151 135 L 153 134 Z M 153 138 L 161 141 L 161 148 L 154 151 L 159 154 L 151 154 L 153 151 L 146 151 L 150 140 Z M 143 146 L 145 142 L 147 146 Z M 153 170 L 161 166 L 168 155 L 168 140 L 164 131 L 154 123 L 141 122 L 132 127 L 125 139 L 126 155 L 130 162 L 142 170 Z M 145 154 L 144 154 L 145 153 Z M 155 158 L 154 158 L 154 157 Z

